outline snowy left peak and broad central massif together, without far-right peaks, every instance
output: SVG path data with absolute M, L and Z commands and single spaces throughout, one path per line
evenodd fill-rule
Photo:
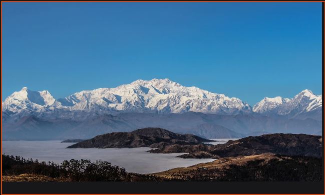
M 195 111 L 234 114 L 239 111 L 251 111 L 246 102 L 236 97 L 227 97 L 194 86 L 182 86 L 168 78 L 136 80 L 115 88 L 83 90 L 57 100 L 48 91 L 32 91 L 24 87 L 10 95 L 3 103 L 3 110 L 12 112 L 41 112 L 54 109 L 96 113 Z

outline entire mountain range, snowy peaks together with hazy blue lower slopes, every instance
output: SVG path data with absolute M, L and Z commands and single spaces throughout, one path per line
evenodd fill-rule
M 160 127 L 206 138 L 268 132 L 321 133 L 321 95 L 268 98 L 252 108 L 236 97 L 185 87 L 169 79 L 136 80 L 55 99 L 27 87 L 5 99 L 4 139 L 90 138 Z

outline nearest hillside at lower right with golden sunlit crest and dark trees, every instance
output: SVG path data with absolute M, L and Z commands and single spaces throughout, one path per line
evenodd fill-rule
M 263 153 L 223 157 L 150 175 L 184 181 L 320 181 L 321 162 L 315 157 Z

